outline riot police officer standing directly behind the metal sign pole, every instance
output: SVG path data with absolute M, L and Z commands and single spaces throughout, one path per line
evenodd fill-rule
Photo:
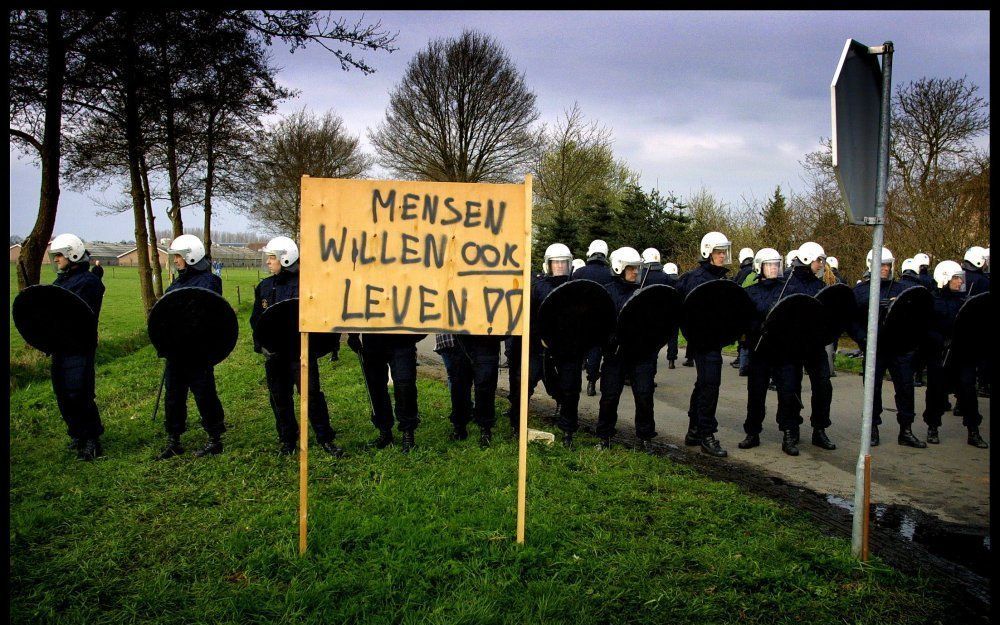
M 889 304 L 898 297 L 906 288 L 894 279 L 895 258 L 888 248 L 882 248 L 882 265 L 873 269 L 872 253 L 868 252 L 865 265 L 868 267 L 870 275 L 875 272 L 879 274 L 879 306 L 883 311 L 888 310 Z M 854 320 L 848 327 L 851 338 L 858 344 L 862 351 L 867 343 L 868 325 L 868 289 L 869 282 L 862 281 L 854 287 L 854 301 L 857 304 L 857 313 Z M 883 314 L 879 315 L 881 319 Z M 897 442 L 900 445 L 923 449 L 927 443 L 913 435 L 912 425 L 915 416 L 913 401 L 913 359 L 911 354 L 887 354 L 882 350 L 875 353 L 875 403 L 872 407 L 872 433 L 871 444 L 879 444 L 878 426 L 882 424 L 882 377 L 886 370 L 892 376 L 892 383 L 896 389 L 896 421 L 899 423 L 899 437 Z

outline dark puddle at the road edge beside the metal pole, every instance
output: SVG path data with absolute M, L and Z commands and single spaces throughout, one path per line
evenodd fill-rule
M 850 513 L 854 502 L 836 495 L 826 495 L 826 501 Z M 964 566 L 991 578 L 989 530 L 944 523 L 908 506 L 872 504 L 875 528 L 895 532 L 900 537 L 925 547 L 936 556 Z

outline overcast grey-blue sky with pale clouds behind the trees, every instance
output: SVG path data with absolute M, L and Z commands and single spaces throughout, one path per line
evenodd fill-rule
M 349 21 L 360 13 L 343 13 Z M 281 114 L 333 110 L 370 150 L 366 131 L 383 118 L 389 92 L 428 41 L 473 28 L 495 37 L 538 95 L 540 121 L 552 124 L 574 102 L 606 125 L 615 152 L 681 198 L 701 187 L 741 207 L 775 185 L 801 188 L 799 161 L 830 131 L 830 82 L 844 42 L 895 44 L 893 86 L 921 77 L 959 78 L 989 99 L 990 17 L 986 11 L 796 12 L 371 12 L 398 32 L 392 54 L 364 53 L 370 76 L 323 50 L 289 54 L 276 45 L 279 80 L 300 91 Z M 980 142 L 988 147 L 989 137 Z M 384 176 L 380 169 L 374 177 Z M 38 209 L 39 170 L 11 151 L 10 229 L 26 235 Z M 92 194 L 91 194 L 92 195 Z M 95 216 L 92 197 L 63 188 L 56 233 L 84 240 L 134 238 L 130 213 Z M 165 205 L 158 227 L 167 228 Z M 185 223 L 203 214 L 188 209 Z M 220 207 L 213 229 L 249 230 Z

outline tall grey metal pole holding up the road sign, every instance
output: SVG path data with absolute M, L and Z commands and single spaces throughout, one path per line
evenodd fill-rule
M 889 178 L 889 113 L 892 105 L 891 41 L 868 49 L 882 55 L 882 110 L 879 122 L 878 177 L 876 179 L 875 217 L 871 219 L 872 261 L 868 285 L 868 338 L 865 346 L 865 403 L 861 421 L 861 449 L 854 470 L 854 518 L 851 532 L 851 552 L 862 560 L 868 559 L 868 494 L 871 480 L 871 431 L 875 403 L 875 358 L 878 347 L 879 292 L 881 287 L 882 239 L 885 228 L 886 184 Z

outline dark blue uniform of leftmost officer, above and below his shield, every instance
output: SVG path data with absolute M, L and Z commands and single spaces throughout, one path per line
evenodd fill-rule
M 59 273 L 55 284 L 75 293 L 100 318 L 104 301 L 104 284 L 89 271 L 89 263 L 73 263 Z M 66 422 L 70 438 L 78 441 L 97 439 L 104 433 L 101 415 L 95 401 L 96 348 L 82 354 L 52 354 L 52 390 L 55 391 L 59 413 Z

